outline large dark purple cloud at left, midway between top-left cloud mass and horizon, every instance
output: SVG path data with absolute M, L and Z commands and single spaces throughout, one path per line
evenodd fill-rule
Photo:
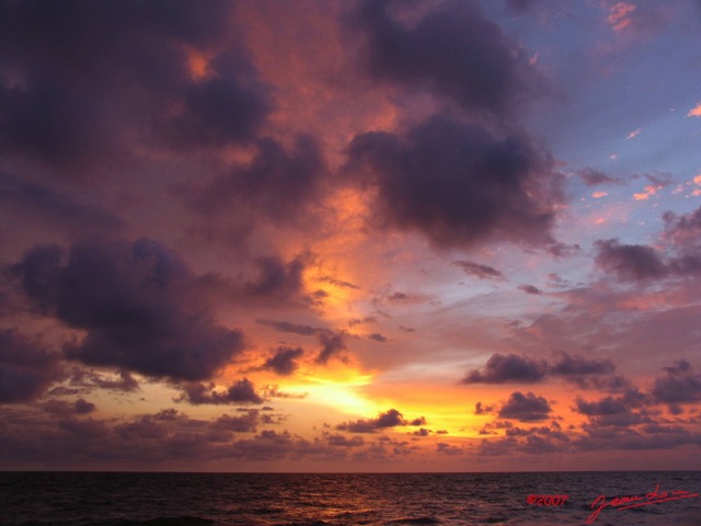
M 91 241 L 73 245 L 65 264 L 61 256 L 58 247 L 37 247 L 12 273 L 39 312 L 85 331 L 69 358 L 200 380 L 242 350 L 243 334 L 214 322 L 196 276 L 161 244 Z

